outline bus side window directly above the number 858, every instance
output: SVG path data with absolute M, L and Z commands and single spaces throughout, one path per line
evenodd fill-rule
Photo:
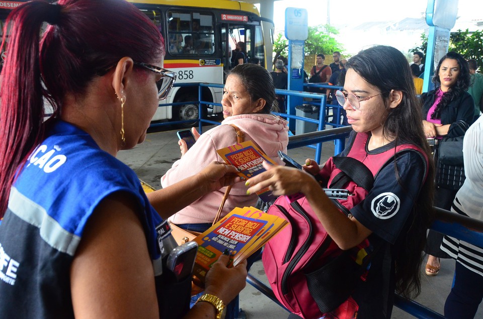
M 172 55 L 211 55 L 215 52 L 212 14 L 170 11 L 169 51 Z

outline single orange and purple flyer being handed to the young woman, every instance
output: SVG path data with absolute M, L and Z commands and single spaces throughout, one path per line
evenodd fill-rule
M 247 179 L 266 171 L 262 165 L 263 161 L 277 165 L 277 163 L 267 156 L 267 154 L 258 148 L 252 141 L 228 146 L 219 149 L 216 152 L 227 163 L 230 163 L 238 169 L 239 176 Z M 264 202 L 273 201 L 277 198 L 268 188 L 258 191 L 257 195 Z

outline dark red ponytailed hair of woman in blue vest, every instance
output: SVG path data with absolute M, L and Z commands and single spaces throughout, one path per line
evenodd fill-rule
M 50 25 L 40 40 L 43 22 Z M 15 172 L 44 139 L 44 98 L 58 117 L 67 93 L 81 96 L 122 57 L 149 63 L 165 53 L 154 24 L 124 0 L 32 1 L 9 15 L 8 27 L 0 89 L 0 217 Z

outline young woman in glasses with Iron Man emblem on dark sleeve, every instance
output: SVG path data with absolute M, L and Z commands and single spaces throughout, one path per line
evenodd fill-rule
M 247 191 L 270 187 L 276 195 L 303 193 L 341 250 L 368 239 L 374 256 L 367 277 L 342 304 L 355 304 L 355 309 L 337 317 L 390 318 L 394 291 L 404 296 L 420 292 L 421 251 L 433 216 L 434 168 L 405 56 L 395 48 L 375 46 L 352 57 L 346 67 L 344 89 L 336 97 L 353 132 L 337 156 L 359 158 L 369 166 L 385 152 L 390 158 L 373 168 L 377 173 L 366 197 L 350 208 L 348 217 L 326 196 L 313 175 L 320 174 L 330 185 L 337 178 L 332 158 L 322 169 L 310 159 L 304 170 L 264 163 L 268 170 L 250 178 Z M 396 153 L 403 146 L 412 148 Z

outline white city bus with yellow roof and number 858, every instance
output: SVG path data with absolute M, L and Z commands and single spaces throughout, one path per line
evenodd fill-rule
M 268 21 L 272 26 L 273 22 L 261 18 L 252 4 L 229 0 L 128 1 L 144 12 L 163 34 L 166 45 L 164 67 L 178 74 L 178 83 L 223 83 L 224 72 L 230 68 L 231 50 L 238 41 L 245 42 L 247 59 L 258 58 L 263 66 L 267 65 L 261 22 Z M 2 26 L 11 10 L 24 2 L 0 0 Z M 196 100 L 197 86 L 174 87 L 163 103 L 186 103 L 164 107 L 160 104 L 153 121 L 196 120 L 199 117 L 198 103 L 190 102 Z M 203 100 L 219 103 L 221 89 L 203 87 Z M 221 107 L 205 105 L 202 115 L 221 111 Z

